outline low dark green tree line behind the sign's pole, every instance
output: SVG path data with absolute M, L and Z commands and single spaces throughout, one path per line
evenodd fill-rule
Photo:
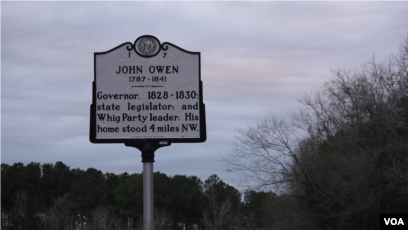
M 0 165 L 0 229 L 141 229 L 143 175 L 55 164 Z M 211 175 L 154 173 L 155 229 L 260 229 L 272 192 Z

